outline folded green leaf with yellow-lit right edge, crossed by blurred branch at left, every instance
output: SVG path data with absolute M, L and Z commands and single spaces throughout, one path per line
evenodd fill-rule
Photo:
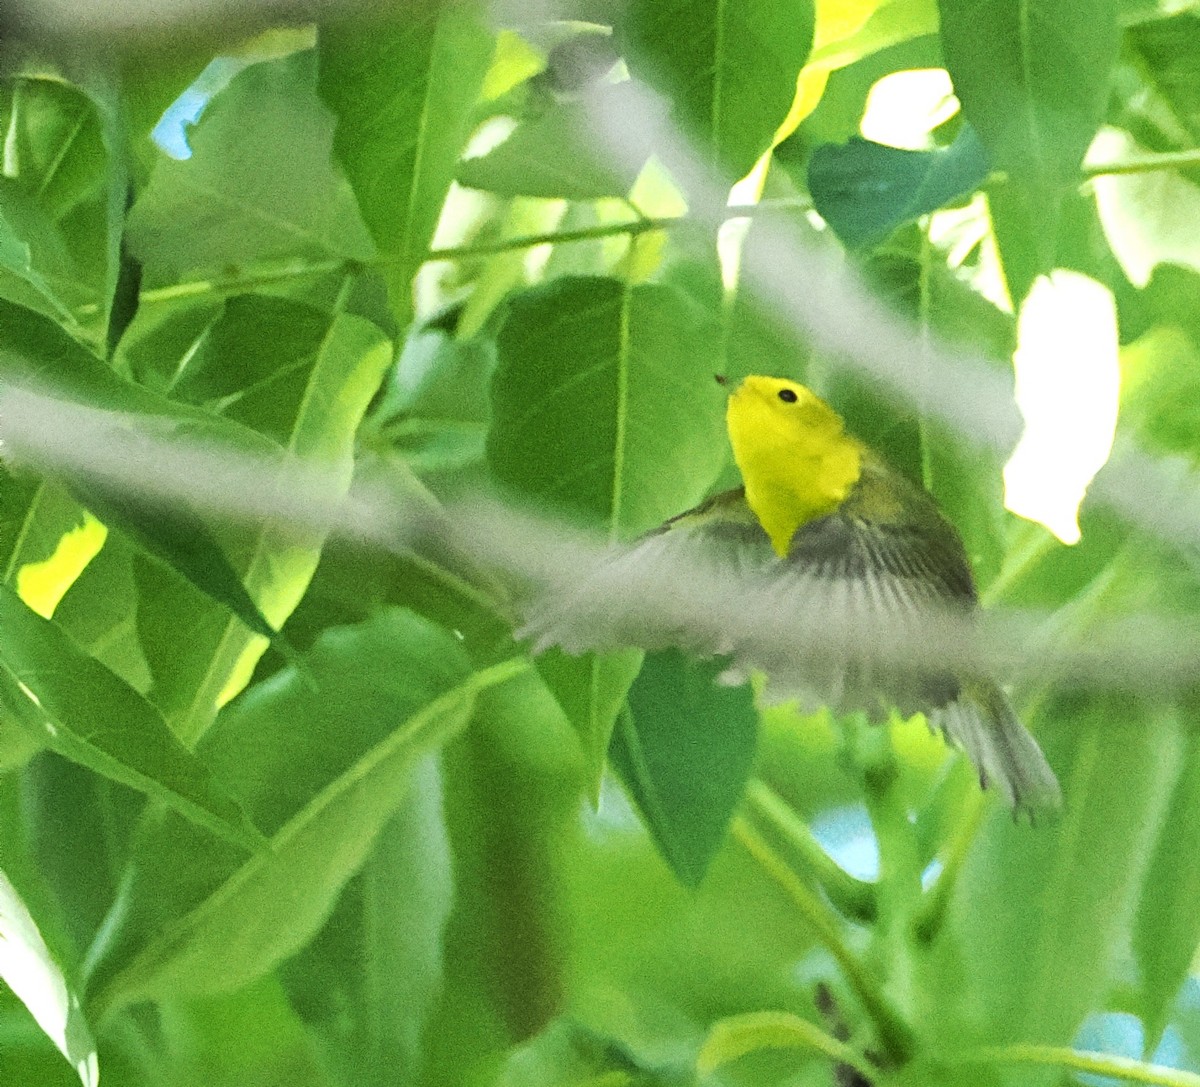
M 326 470 L 336 487 L 348 487 L 354 434 L 391 358 L 379 328 L 344 310 L 355 284 L 356 277 L 344 280 L 332 312 L 260 295 L 232 299 L 193 343 L 176 344 L 179 358 L 157 365 L 173 367 L 176 395 L 220 410 L 224 418 L 215 422 L 258 432 L 272 450 L 282 446 L 294 461 Z M 217 539 L 263 615 L 281 625 L 304 595 L 323 536 L 264 522 L 223 527 Z M 194 740 L 217 705 L 248 680 L 265 643 L 233 626 L 190 584 L 146 564 L 136 577 L 155 699 L 180 734 Z M 181 630 L 188 638 L 180 638 Z

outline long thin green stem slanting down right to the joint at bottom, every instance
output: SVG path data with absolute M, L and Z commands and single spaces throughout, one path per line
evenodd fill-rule
M 892 1007 L 871 973 L 851 953 L 828 907 L 804 885 L 787 866 L 787 863 L 772 849 L 744 816 L 736 817 L 730 829 L 732 836 L 787 894 L 804 919 L 812 926 L 817 939 L 841 967 L 846 983 L 875 1023 L 880 1044 L 892 1062 L 895 1064 L 906 1063 L 913 1055 L 912 1028 Z

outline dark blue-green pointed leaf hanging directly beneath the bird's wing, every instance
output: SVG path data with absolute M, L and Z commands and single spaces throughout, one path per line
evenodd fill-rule
M 754 762 L 754 695 L 724 685 L 724 668 L 676 649 L 649 654 L 613 733 L 613 764 L 689 887 L 704 878 Z

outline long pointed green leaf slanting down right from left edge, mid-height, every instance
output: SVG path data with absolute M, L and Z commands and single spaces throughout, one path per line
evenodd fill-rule
M 52 751 L 162 800 L 212 834 L 257 848 L 245 815 L 140 695 L 0 585 L 5 716 Z

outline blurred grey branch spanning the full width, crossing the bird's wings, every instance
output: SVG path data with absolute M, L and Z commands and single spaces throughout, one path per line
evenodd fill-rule
M 864 617 L 797 612 L 746 591 L 727 571 L 677 561 L 653 570 L 613 561 L 596 536 L 560 522 L 475 499 L 446 510 L 410 481 L 346 486 L 344 468 L 320 469 L 280 455 L 271 458 L 204 445 L 155 416 L 100 410 L 29 390 L 0 391 L 4 451 L 18 468 L 65 481 L 86 480 L 142 502 L 185 503 L 235 523 L 272 522 L 299 538 L 334 533 L 386 551 L 469 555 L 539 594 L 587 608 L 629 609 L 649 639 L 692 631 L 724 632 L 761 647 L 768 656 L 829 655 L 852 645 L 856 655 L 908 668 L 930 666 L 1044 683 L 1169 692 L 1200 681 L 1200 631 L 1194 624 L 1129 615 L 1088 629 L 1086 644 L 1060 644 L 1045 613 L 992 611 L 983 615 L 928 608 L 900 629 Z M 1153 462 L 1147 462 L 1153 468 Z M 1190 484 L 1190 480 L 1188 481 Z M 1112 487 L 1147 481 L 1120 476 Z M 1172 516 L 1178 518 L 1178 510 Z M 1187 526 L 1190 530 L 1190 526 Z M 617 552 L 619 554 L 619 552 Z M 596 578 L 595 571 L 618 571 Z M 623 614 L 625 614 L 623 612 Z M 918 627 L 920 637 L 912 631 Z

